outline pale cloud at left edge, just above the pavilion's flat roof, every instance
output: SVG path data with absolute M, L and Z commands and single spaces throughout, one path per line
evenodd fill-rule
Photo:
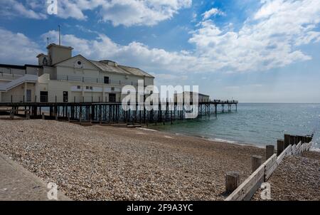
M 36 63 L 36 56 L 41 53 L 38 44 L 23 33 L 12 33 L 0 28 L 0 62 L 4 64 Z

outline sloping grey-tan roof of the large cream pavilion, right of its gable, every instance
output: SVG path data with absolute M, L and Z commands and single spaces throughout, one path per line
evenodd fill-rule
M 154 76 L 144 72 L 139 68 L 133 68 L 125 65 L 117 65 L 117 63 L 115 62 L 114 62 L 115 65 L 109 65 L 107 61 L 90 61 L 90 62 L 93 63 L 95 66 L 97 66 L 97 68 L 100 68 L 100 70 L 105 72 L 119 73 L 122 75 L 138 75 L 138 76 L 154 78 Z

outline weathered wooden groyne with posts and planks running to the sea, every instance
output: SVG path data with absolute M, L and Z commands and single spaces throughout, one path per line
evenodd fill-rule
M 228 172 L 225 177 L 225 190 L 231 194 L 225 201 L 250 200 L 261 184 L 270 179 L 284 157 L 308 151 L 312 145 L 312 138 L 313 135 L 284 135 L 284 140 L 277 141 L 277 154 L 274 154 L 274 145 L 268 145 L 266 161 L 262 164 L 262 157 L 252 156 L 252 174 L 242 184 L 239 184 L 238 172 Z

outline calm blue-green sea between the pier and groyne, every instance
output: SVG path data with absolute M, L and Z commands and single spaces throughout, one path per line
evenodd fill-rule
M 220 112 L 216 117 L 212 114 L 150 128 L 257 147 L 277 147 L 284 134 L 314 134 L 311 150 L 320 152 L 320 104 L 239 103 L 238 111 L 233 107 L 232 112 Z

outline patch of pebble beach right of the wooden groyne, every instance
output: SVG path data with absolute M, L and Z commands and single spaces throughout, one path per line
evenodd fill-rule
M 284 158 L 268 182 L 272 200 L 319 201 L 320 153 L 304 152 L 302 156 Z M 261 200 L 260 194 L 258 190 L 252 200 Z

